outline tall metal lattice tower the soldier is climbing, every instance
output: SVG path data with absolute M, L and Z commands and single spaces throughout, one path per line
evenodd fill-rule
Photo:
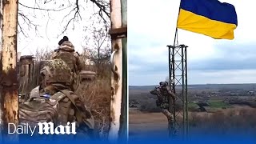
M 169 49 L 169 86 L 175 94 L 169 100 L 170 113 L 174 115 L 174 137 L 187 138 L 189 131 L 187 107 L 187 61 L 186 48 L 188 46 L 167 46 Z M 178 103 L 182 104 L 180 110 Z

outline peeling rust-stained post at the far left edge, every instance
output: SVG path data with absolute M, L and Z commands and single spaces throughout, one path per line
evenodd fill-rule
M 8 123 L 18 125 L 18 82 L 17 62 L 17 24 L 18 0 L 2 2 L 2 134 L 7 141 L 18 140 L 18 134 L 7 134 Z M 10 127 L 10 130 L 14 127 Z M 14 130 L 12 130 L 14 131 Z

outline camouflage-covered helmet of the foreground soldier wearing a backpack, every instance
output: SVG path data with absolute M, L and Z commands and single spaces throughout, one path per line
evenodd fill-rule
M 70 67 L 62 59 L 58 58 L 46 62 L 42 66 L 40 74 L 42 74 L 43 80 L 47 85 L 62 83 L 65 86 L 70 86 L 73 81 Z

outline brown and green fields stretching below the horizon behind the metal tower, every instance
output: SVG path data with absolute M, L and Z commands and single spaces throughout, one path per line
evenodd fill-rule
M 230 86 L 232 88 L 233 85 Z M 243 88 L 241 89 L 243 90 Z M 248 87 L 247 89 L 251 90 Z M 234 96 L 225 94 L 206 96 L 206 94 L 202 94 L 203 91 L 206 91 L 207 94 L 218 92 L 218 89 L 198 90 L 198 88 L 195 88 L 190 90 L 188 109 L 191 135 L 200 134 L 210 137 L 213 134 L 225 136 L 234 133 L 248 136 L 255 135 L 256 109 L 250 105 L 251 103 L 256 103 L 256 101 L 251 100 L 254 98 L 253 96 L 239 96 L 239 99 L 245 102 L 241 103 L 240 100 L 238 102 L 235 100 L 234 103 L 230 103 L 230 100 L 233 102 L 233 99 L 235 99 Z M 130 90 L 129 94 L 130 99 L 140 102 L 137 110 L 134 108 L 129 110 L 129 138 L 168 138 L 167 118 L 161 111 L 158 111 L 158 107 L 155 104 L 157 98 L 150 95 L 148 89 Z M 224 100 L 227 101 L 224 102 Z M 199 109 L 198 104 L 195 103 L 200 101 L 209 104 L 209 106 L 204 106 L 206 111 Z M 179 110 L 182 108 L 182 102 L 176 102 L 176 106 L 176 110 Z M 176 118 L 178 123 L 181 124 L 182 115 L 178 114 Z

